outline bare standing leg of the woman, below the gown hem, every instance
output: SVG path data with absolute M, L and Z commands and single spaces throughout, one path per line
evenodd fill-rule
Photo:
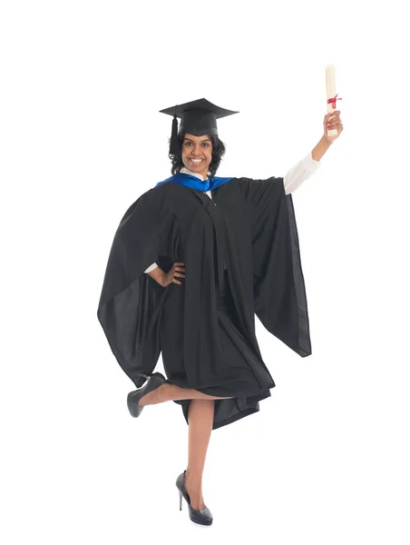
M 214 400 L 192 399 L 190 401 L 188 467 L 184 484 L 193 509 L 205 509 L 202 497 L 202 473 L 210 443 L 214 411 Z

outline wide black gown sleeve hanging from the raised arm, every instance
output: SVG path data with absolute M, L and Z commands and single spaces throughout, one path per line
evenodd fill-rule
M 254 311 L 268 332 L 310 355 L 307 296 L 292 194 L 283 177 L 239 178 L 249 211 Z

